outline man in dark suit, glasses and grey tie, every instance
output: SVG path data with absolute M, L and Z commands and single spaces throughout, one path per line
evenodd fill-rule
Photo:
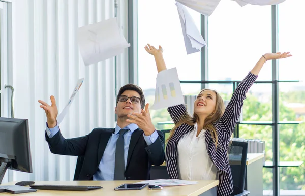
M 137 85 L 120 88 L 115 128 L 95 128 L 78 138 L 62 136 L 54 96 L 51 105 L 38 102 L 47 116 L 46 141 L 50 151 L 78 156 L 74 180 L 149 180 L 151 165 L 160 166 L 164 161 L 164 135 L 151 122 L 148 104 Z

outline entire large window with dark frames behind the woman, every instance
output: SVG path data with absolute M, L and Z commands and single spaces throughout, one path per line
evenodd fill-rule
M 207 62 L 201 68 L 200 53 L 186 54 L 177 8 L 173 0 L 138 1 L 138 68 L 139 85 L 144 89 L 146 99 L 153 104 L 157 69 L 153 56 L 144 50 L 147 43 L 162 45 L 168 68 L 177 67 L 180 80 L 201 80 L 201 69 L 207 71 L 209 81 L 241 81 L 254 67 L 262 54 L 277 49 L 290 51 L 293 57 L 281 59 L 279 72 L 272 72 L 272 62 L 264 64 L 258 80 L 247 93 L 242 110 L 243 121 L 272 121 L 279 117 L 279 126 L 239 125 L 239 137 L 265 141 L 266 161 L 276 161 L 276 146 L 273 146 L 275 132 L 279 132 L 279 175 L 275 169 L 263 168 L 263 188 L 265 195 L 299 195 L 305 190 L 305 66 L 303 60 L 305 23 L 300 17 L 305 1 L 290 0 L 278 6 L 240 7 L 235 1 L 221 1 L 208 17 L 207 24 L 200 21 L 200 14 L 189 9 L 197 27 L 206 25 L 208 30 Z M 275 12 L 272 12 L 272 9 Z M 278 20 L 277 20 L 278 19 Z M 278 21 L 278 26 L 272 21 Z M 276 27 L 277 29 L 273 29 Z M 272 42 L 272 36 L 273 38 Z M 272 45 L 273 44 L 273 45 Z M 272 78 L 278 76 L 279 95 L 275 93 Z M 301 82 L 298 82 L 301 81 Z M 209 84 L 224 100 L 232 95 L 232 84 Z M 197 94 L 201 84 L 182 84 L 182 92 Z M 272 102 L 276 101 L 276 102 Z M 273 106 L 278 104 L 279 111 Z M 172 125 L 157 125 L 170 121 L 166 109 L 151 111 L 157 128 L 171 128 Z M 303 122 L 303 123 L 301 123 Z M 278 127 L 278 129 L 277 129 Z M 274 180 L 279 179 L 280 184 Z M 287 194 L 286 194 L 287 193 Z M 301 195 L 304 195 L 303 192 Z

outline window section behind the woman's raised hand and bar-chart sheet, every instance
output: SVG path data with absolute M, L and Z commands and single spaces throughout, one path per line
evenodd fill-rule
M 188 10 L 200 30 L 200 14 Z M 167 68 L 176 67 L 180 80 L 201 80 L 200 52 L 187 55 L 175 1 L 138 1 L 138 81 L 151 106 L 155 99 L 157 68 L 154 57 L 144 49 L 147 43 L 163 47 Z M 186 84 L 181 88 L 184 94 L 200 91 L 200 85 Z M 158 125 L 170 120 L 166 109 L 151 111 L 151 114 L 156 127 L 170 127 Z

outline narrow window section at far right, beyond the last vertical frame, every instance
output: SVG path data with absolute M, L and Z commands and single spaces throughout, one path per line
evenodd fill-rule
M 304 67 L 304 27 L 303 12 L 305 1 L 285 1 L 279 4 L 279 51 L 290 51 L 293 57 L 279 61 L 279 80 L 305 79 Z M 280 120 L 305 120 L 305 85 L 303 82 L 281 82 Z M 298 161 L 305 160 L 305 124 L 280 125 L 280 161 L 288 165 L 280 170 L 280 188 L 282 190 L 305 190 L 305 165 L 298 166 Z

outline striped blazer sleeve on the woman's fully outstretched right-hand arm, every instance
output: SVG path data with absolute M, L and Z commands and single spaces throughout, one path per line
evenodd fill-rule
M 257 77 L 257 75 L 254 75 L 251 72 L 248 73 L 245 79 L 242 80 L 233 92 L 223 116 L 219 119 L 219 122 L 223 125 L 222 130 L 228 135 L 228 138 L 233 134 L 234 127 L 241 113 L 243 101 L 246 99 L 246 93 Z

